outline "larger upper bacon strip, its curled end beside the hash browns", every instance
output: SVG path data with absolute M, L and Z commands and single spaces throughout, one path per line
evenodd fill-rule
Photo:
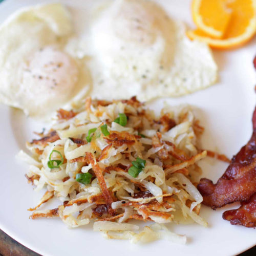
M 215 209 L 238 201 L 247 201 L 256 192 L 256 108 L 249 142 L 234 156 L 217 184 L 201 179 L 198 190 L 203 203 Z

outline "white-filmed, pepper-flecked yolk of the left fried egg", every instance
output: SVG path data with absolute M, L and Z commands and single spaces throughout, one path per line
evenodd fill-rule
M 78 80 L 74 59 L 53 47 L 35 52 L 24 69 L 23 83 L 31 95 L 46 97 L 70 94 Z M 42 95 L 41 95 L 42 96 Z

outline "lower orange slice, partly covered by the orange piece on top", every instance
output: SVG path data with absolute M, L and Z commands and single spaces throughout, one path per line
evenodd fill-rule
M 245 44 L 256 33 L 256 0 L 220 1 L 225 5 L 225 8 L 231 10 L 231 16 L 222 38 L 213 38 L 201 28 L 188 31 L 188 37 L 204 41 L 212 48 L 217 49 L 230 49 Z M 218 17 L 218 13 L 211 15 Z

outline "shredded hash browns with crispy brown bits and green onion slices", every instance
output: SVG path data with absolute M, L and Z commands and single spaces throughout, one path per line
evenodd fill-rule
M 84 108 L 85 106 L 85 108 Z M 78 102 L 72 111 L 59 110 L 49 132 L 27 143 L 32 157 L 27 178 L 47 192 L 32 219 L 58 216 L 69 227 L 95 221 L 94 230 L 109 238 L 151 241 L 185 237 L 164 223 L 207 223 L 199 216 L 202 196 L 195 187 L 197 149 L 202 127 L 189 106 L 165 106 L 160 117 L 136 100 Z M 60 204 L 37 210 L 51 198 Z M 127 221 L 153 221 L 145 227 Z

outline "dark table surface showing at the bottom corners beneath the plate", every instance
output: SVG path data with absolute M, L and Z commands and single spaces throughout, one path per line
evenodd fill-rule
M 1 1 L 1 0 L 0 0 Z M 241 253 L 239 256 L 255 256 L 256 246 Z M 0 256 L 40 256 L 27 247 L 19 244 L 0 229 Z

